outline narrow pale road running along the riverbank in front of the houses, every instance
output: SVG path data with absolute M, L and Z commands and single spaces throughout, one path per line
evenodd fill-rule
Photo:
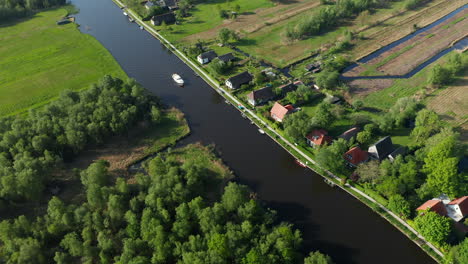
M 125 5 L 120 2 L 119 0 L 114 0 L 116 3 L 118 3 L 121 7 L 125 7 Z M 299 153 L 302 158 L 306 159 L 307 161 L 311 162 L 312 164 L 314 164 L 315 166 L 321 168 L 322 170 L 324 170 L 328 176 L 330 176 L 331 178 L 335 179 L 335 180 L 338 180 L 340 181 L 341 179 L 334 175 L 333 173 L 329 172 L 328 170 L 325 170 L 323 169 L 317 162 L 315 162 L 315 160 L 313 160 L 312 158 L 310 158 L 307 154 L 305 154 L 304 152 L 302 152 L 300 149 L 298 149 L 295 145 L 293 145 L 291 142 L 289 142 L 286 138 L 284 138 L 283 136 L 281 136 L 280 134 L 278 134 L 272 127 L 270 127 L 266 122 L 264 122 L 262 119 L 260 119 L 257 114 L 255 114 L 253 111 L 251 111 L 250 109 L 246 108 L 244 106 L 244 104 L 239 101 L 236 97 L 234 97 L 233 95 L 231 95 L 230 93 L 228 92 L 225 92 L 224 89 L 222 87 L 220 87 L 218 85 L 218 83 L 216 82 L 216 80 L 214 80 L 211 76 L 209 76 L 207 73 L 205 73 L 202 69 L 200 69 L 200 67 L 195 64 L 192 60 L 190 60 L 185 54 L 183 54 L 181 51 L 179 51 L 174 45 L 172 45 L 172 43 L 170 43 L 166 38 L 164 38 L 161 34 L 159 34 L 155 29 L 153 29 L 152 27 L 148 26 L 146 23 L 144 23 L 139 17 L 137 14 L 135 14 L 132 10 L 130 9 L 126 9 L 127 10 L 127 13 L 128 15 L 131 15 L 135 21 L 138 22 L 138 24 L 142 25 L 143 27 L 145 27 L 145 29 L 150 32 L 151 34 L 153 34 L 155 37 L 157 37 L 160 41 L 163 41 L 164 44 L 168 45 L 172 51 L 179 57 L 182 59 L 182 61 L 184 63 L 186 63 L 189 67 L 191 67 L 193 70 L 195 70 L 196 72 L 198 72 L 200 74 L 200 76 L 203 77 L 203 79 L 210 85 L 212 86 L 221 96 L 223 96 L 224 98 L 228 98 L 230 99 L 232 102 L 234 102 L 236 105 L 239 105 L 239 106 L 242 106 L 244 108 L 244 111 L 242 111 L 241 109 L 239 109 L 238 107 L 235 107 L 237 110 L 239 110 L 240 112 L 242 113 L 247 113 L 250 115 L 251 119 L 254 119 L 256 120 L 258 123 L 262 124 L 263 126 L 265 126 L 270 132 L 272 132 L 273 134 L 275 134 L 284 144 L 286 144 L 287 146 L 289 146 L 290 148 L 292 148 L 294 151 L 296 151 L 297 153 Z M 273 137 L 272 137 L 273 138 Z M 276 139 L 273 138 L 273 140 L 277 141 Z M 279 143 L 279 142 L 278 142 Z M 280 144 L 281 146 L 283 146 L 282 144 Z M 284 146 L 283 146 L 284 147 Z M 286 149 L 287 150 L 287 149 Z M 312 168 L 308 167 L 309 169 L 313 170 Z M 319 175 L 321 175 L 320 173 L 317 173 Z M 327 179 L 327 177 L 321 175 L 322 177 L 324 177 L 325 179 Z M 351 194 L 353 197 L 355 197 L 355 195 L 351 192 L 349 192 L 346 188 L 344 188 L 343 186 L 340 186 L 340 185 L 337 185 L 339 186 L 340 188 L 342 188 L 344 191 L 348 192 L 349 194 Z M 421 239 L 422 241 L 424 241 L 425 244 L 427 244 L 431 249 L 433 249 L 439 256 L 443 257 L 444 254 L 442 254 L 442 252 L 440 252 L 435 246 L 433 246 L 431 243 L 429 243 L 428 241 L 425 240 L 425 238 L 420 235 L 416 230 L 414 230 L 410 225 L 408 225 L 403 219 L 401 219 L 399 216 L 397 216 L 396 214 L 394 214 L 393 212 L 391 212 L 390 210 L 388 210 L 386 207 L 384 207 L 383 205 L 381 205 L 380 203 L 378 203 L 376 200 L 374 200 L 373 198 L 369 197 L 367 194 L 361 192 L 360 190 L 354 188 L 353 186 L 349 185 L 349 184 L 346 184 L 345 187 L 353 190 L 354 192 L 358 193 L 359 195 L 361 195 L 362 197 L 366 198 L 367 200 L 377 204 L 380 208 L 382 208 L 385 212 L 387 212 L 388 214 L 390 214 L 393 218 L 397 219 L 398 222 L 400 222 L 402 225 L 404 225 L 406 228 L 408 228 L 411 232 L 413 232 L 415 235 L 417 235 L 417 237 L 419 239 Z M 357 197 L 356 197 L 357 198 Z M 413 240 L 414 241 L 414 240 Z M 416 243 L 416 241 L 414 241 Z M 421 246 L 419 245 L 418 243 L 416 243 L 418 246 Z

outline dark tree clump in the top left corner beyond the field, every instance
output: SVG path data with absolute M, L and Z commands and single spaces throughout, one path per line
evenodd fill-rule
M 0 23 L 26 17 L 36 10 L 65 3 L 66 0 L 0 0 Z

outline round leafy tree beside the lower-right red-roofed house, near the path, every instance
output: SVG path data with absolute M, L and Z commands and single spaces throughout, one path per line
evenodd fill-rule
M 424 238 L 436 245 L 444 245 L 452 231 L 451 220 L 432 211 L 417 216 L 414 225 Z

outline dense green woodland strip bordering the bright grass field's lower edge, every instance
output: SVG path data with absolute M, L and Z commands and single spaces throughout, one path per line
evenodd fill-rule
M 105 76 L 85 91 L 63 92 L 25 117 L 0 119 L 0 202 L 38 198 L 63 161 L 88 144 L 154 119 L 159 107 L 159 99 L 133 80 Z

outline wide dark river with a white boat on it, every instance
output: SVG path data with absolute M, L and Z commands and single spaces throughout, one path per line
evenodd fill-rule
M 304 252 L 320 250 L 338 264 L 435 263 L 365 205 L 295 165 L 157 39 L 130 23 L 111 0 L 72 2 L 80 9 L 76 17 L 84 33 L 96 37 L 130 77 L 186 114 L 192 134 L 183 143 L 215 144 L 241 183 L 282 220 L 301 229 Z M 173 83 L 174 72 L 186 80 L 185 87 Z

